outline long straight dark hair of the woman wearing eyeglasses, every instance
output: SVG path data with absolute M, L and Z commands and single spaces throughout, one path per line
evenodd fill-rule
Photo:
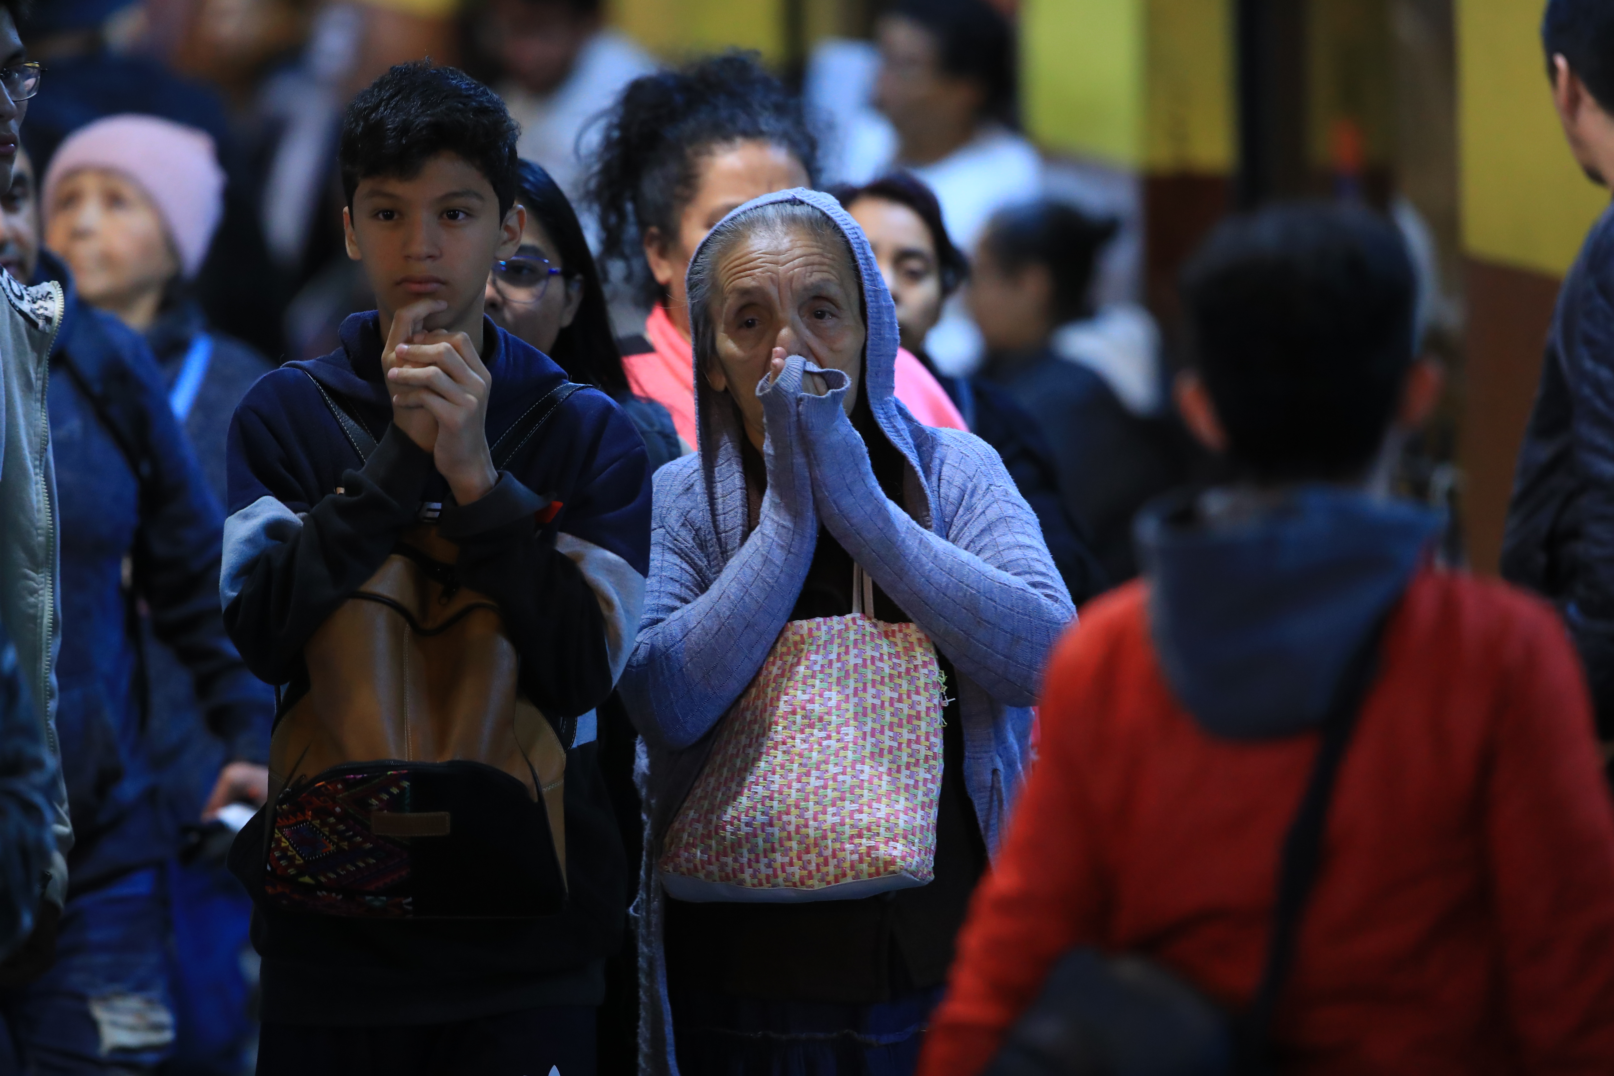
M 612 398 L 629 395 L 628 374 L 621 368 L 621 352 L 610 329 L 610 308 L 605 289 L 600 287 L 589 240 L 583 224 L 554 177 L 533 161 L 518 161 L 518 200 L 526 206 L 528 221 L 537 221 L 555 242 L 560 256 L 560 273 L 565 281 L 583 281 L 583 305 L 571 319 L 549 357 L 567 371 L 571 381 L 586 382 L 605 390 Z

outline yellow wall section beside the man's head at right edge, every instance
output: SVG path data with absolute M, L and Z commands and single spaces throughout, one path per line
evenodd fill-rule
M 1580 173 L 1553 111 L 1541 0 L 1457 0 L 1457 137 L 1469 255 L 1562 276 L 1608 190 Z

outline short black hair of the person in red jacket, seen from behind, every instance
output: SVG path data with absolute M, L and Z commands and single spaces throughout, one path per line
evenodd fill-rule
M 1231 463 L 1256 481 L 1348 481 L 1374 463 L 1412 361 L 1417 279 L 1362 208 L 1223 221 L 1183 269 L 1199 368 Z

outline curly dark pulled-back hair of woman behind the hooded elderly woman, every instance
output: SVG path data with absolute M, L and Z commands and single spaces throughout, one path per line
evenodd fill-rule
M 600 258 L 625 271 L 641 302 L 662 302 L 644 260 L 642 236 L 676 234 L 696 194 L 699 165 L 734 142 L 771 142 L 818 181 L 818 140 L 799 97 L 762 69 L 755 53 L 730 52 L 678 71 L 634 79 L 607 113 L 587 179 L 599 216 Z

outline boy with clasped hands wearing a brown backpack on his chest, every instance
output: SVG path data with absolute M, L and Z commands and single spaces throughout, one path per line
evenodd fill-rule
M 626 908 L 594 707 L 639 619 L 649 466 L 483 313 L 521 240 L 515 142 L 452 68 L 362 92 L 339 163 L 378 310 L 236 410 L 224 619 L 281 692 L 231 855 L 260 1074 L 592 1071 Z

